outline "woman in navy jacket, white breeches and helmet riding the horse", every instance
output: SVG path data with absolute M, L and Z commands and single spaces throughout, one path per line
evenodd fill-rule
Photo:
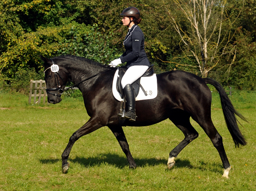
M 135 93 L 131 84 L 147 71 L 150 62 L 145 53 L 144 34 L 137 25 L 140 24 L 141 21 L 140 11 L 135 7 L 128 7 L 123 10 L 120 15 L 123 16 L 123 25 L 129 27 L 123 43 L 126 52 L 118 59 L 113 60 L 109 65 L 111 67 L 116 67 L 117 65 L 126 62 L 126 67 L 128 69 L 121 80 L 121 85 L 127 101 L 127 111 L 125 112 L 124 117 L 130 121 L 135 121 Z M 120 117 L 122 115 L 123 114 L 121 113 L 118 114 Z

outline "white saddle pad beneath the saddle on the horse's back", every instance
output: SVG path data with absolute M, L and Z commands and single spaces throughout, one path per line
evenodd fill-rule
M 121 94 L 116 90 L 116 81 L 117 81 L 117 77 L 119 77 L 118 72 L 119 72 L 119 69 L 116 70 L 116 73 L 113 79 L 112 91 L 116 100 L 122 101 L 124 99 L 121 98 Z M 144 90 L 147 92 L 148 95 L 146 96 L 140 88 L 139 94 L 135 99 L 136 101 L 150 100 L 150 99 L 154 99 L 157 96 L 156 74 L 154 74 L 153 76 L 141 77 L 140 84 L 144 88 Z

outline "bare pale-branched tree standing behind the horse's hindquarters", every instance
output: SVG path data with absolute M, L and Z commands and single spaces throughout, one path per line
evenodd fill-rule
M 181 48 L 196 59 L 202 77 L 207 77 L 224 56 L 232 57 L 231 66 L 236 58 L 232 25 L 241 10 L 237 15 L 228 12 L 228 0 L 174 0 L 174 3 L 189 25 L 184 27 L 184 20 L 167 7 L 170 21 L 181 38 Z

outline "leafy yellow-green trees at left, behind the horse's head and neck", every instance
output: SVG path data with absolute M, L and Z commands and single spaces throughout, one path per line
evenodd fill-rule
M 102 63 L 117 57 L 116 49 L 109 44 L 111 33 L 102 35 L 97 24 L 86 26 L 76 22 L 79 13 L 69 2 L 0 1 L 1 81 L 12 83 L 19 71 L 42 73 L 39 54 L 73 54 Z

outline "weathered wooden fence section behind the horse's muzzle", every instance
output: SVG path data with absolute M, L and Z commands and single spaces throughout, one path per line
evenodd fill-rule
M 33 94 L 34 93 L 34 94 Z M 40 104 L 43 97 L 43 104 L 47 102 L 46 84 L 44 80 L 33 81 L 30 80 L 29 86 L 29 105 L 31 105 L 32 97 L 34 97 L 34 104 Z

